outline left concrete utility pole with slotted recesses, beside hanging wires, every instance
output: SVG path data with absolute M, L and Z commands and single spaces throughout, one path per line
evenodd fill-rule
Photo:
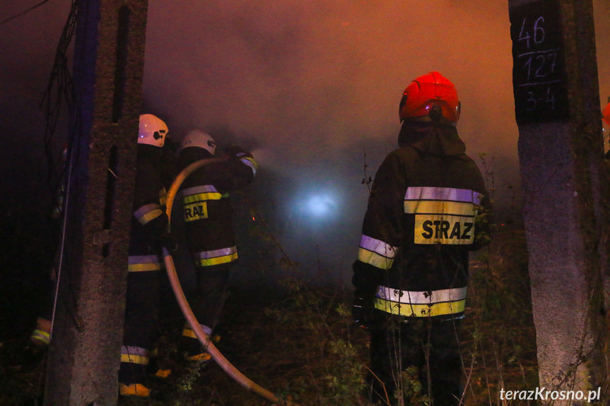
M 46 406 L 116 405 L 146 0 L 80 0 L 66 244 Z

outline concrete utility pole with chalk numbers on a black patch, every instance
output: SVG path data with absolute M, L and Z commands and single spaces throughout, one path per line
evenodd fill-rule
M 579 396 L 601 387 L 607 405 L 608 189 L 592 1 L 508 3 L 540 387 L 583 391 L 539 403 L 587 404 Z

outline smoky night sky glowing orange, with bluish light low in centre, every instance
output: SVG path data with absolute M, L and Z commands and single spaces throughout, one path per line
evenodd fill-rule
M 3 1 L 0 20 L 40 3 Z M 4 212 L 47 193 L 40 109 L 70 1 L 0 25 Z M 610 1 L 594 1 L 600 102 L 610 96 Z M 180 140 L 199 127 L 259 161 L 250 201 L 304 268 L 346 279 L 368 189 L 397 147 L 409 82 L 440 71 L 462 102 L 467 153 L 493 162 L 498 220 L 517 220 L 519 172 L 507 1 L 151 0 L 145 111 Z M 56 156 L 64 143 L 57 133 Z M 251 221 L 248 208 L 236 222 Z M 239 228 L 239 227 L 238 227 Z M 247 239 L 247 235 L 238 236 Z M 248 243 L 245 242 L 245 245 Z M 318 265 L 317 261 L 319 261 Z

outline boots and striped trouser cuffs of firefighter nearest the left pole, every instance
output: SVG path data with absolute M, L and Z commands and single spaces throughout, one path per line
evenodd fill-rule
M 148 398 L 151 391 L 146 386 L 146 366 L 149 353 L 146 348 L 123 345 L 119 367 L 119 395 Z

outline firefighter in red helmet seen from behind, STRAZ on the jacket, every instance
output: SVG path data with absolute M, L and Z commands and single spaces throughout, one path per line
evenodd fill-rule
M 457 328 L 469 251 L 488 244 L 491 205 L 458 136 L 459 113 L 454 85 L 438 72 L 404 90 L 399 148 L 375 174 L 353 263 L 352 314 L 370 331 L 371 384 L 407 405 L 403 373 L 413 370 L 430 405 L 462 395 Z

